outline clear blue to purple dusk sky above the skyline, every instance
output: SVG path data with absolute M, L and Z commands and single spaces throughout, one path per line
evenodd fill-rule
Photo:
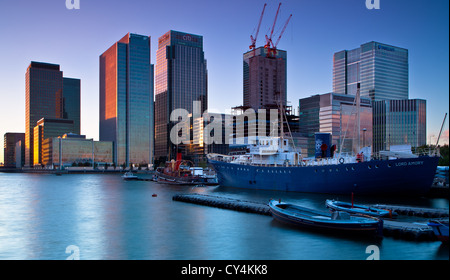
M 72 0 L 74 1 L 74 0 Z M 374 1 L 374 0 L 372 0 Z M 64 77 L 81 79 L 81 133 L 98 140 L 99 56 L 128 32 L 158 37 L 169 30 L 203 36 L 208 108 L 242 105 L 242 55 L 248 51 L 264 3 L 257 46 L 270 33 L 279 0 L 0 0 L 0 144 L 7 132 L 25 132 L 25 73 L 31 61 L 55 63 Z M 436 143 L 449 111 L 449 1 L 281 1 L 275 34 L 292 18 L 278 44 L 287 51 L 287 96 L 332 91 L 333 54 L 377 41 L 409 50 L 409 98 L 427 100 L 427 142 Z M 448 143 L 449 121 L 440 144 Z M 0 162 L 3 149 L 0 149 Z

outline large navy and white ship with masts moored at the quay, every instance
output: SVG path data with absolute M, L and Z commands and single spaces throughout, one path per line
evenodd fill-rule
M 284 137 L 283 125 L 281 131 L 280 137 L 250 139 L 244 155 L 208 154 L 219 185 L 340 195 L 421 196 L 432 186 L 440 157 L 438 149 L 413 154 L 410 146 L 395 149 L 392 145 L 389 151 L 375 156 L 370 147 L 356 147 L 356 155 L 339 152 L 332 157 L 303 158 Z

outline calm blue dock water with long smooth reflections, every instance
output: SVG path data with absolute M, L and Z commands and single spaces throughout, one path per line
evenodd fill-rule
M 125 182 L 119 174 L 0 173 L 0 259 L 158 260 L 364 260 L 377 245 L 380 259 L 449 259 L 440 242 L 385 237 L 337 237 L 309 232 L 269 216 L 172 201 L 199 192 L 252 201 L 270 198 L 325 209 L 330 195 L 193 188 L 155 182 Z M 157 197 L 152 197 L 157 194 Z M 447 199 L 356 198 L 359 203 L 395 203 L 448 209 Z M 69 247 L 72 248 L 72 247 Z

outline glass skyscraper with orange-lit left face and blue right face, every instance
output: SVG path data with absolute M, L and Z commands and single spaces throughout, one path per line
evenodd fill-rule
M 116 164 L 153 161 L 150 37 L 128 33 L 100 55 L 100 141 L 114 142 Z

